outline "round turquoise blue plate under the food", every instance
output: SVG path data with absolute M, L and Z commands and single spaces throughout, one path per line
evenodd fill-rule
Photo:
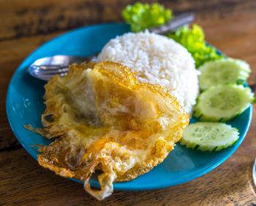
M 40 116 L 45 109 L 42 99 L 45 82 L 29 76 L 28 66 L 34 60 L 45 56 L 93 55 L 99 52 L 110 39 L 128 31 L 129 26 L 122 23 L 93 25 L 70 31 L 43 44 L 15 71 L 7 92 L 7 116 L 15 136 L 34 159 L 37 159 L 38 151 L 33 146 L 48 145 L 50 140 L 23 127 L 24 124 L 42 127 Z M 118 190 L 160 189 L 185 183 L 208 173 L 222 164 L 240 146 L 249 128 L 251 117 L 252 106 L 232 122 L 228 122 L 233 127 L 237 127 L 240 132 L 240 138 L 234 146 L 210 153 L 192 151 L 177 144 L 162 164 L 133 181 L 115 183 L 114 188 Z M 98 186 L 95 178 L 91 179 L 91 185 Z

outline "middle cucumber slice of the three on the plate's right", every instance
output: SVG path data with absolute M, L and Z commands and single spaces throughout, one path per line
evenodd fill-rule
M 226 122 L 241 114 L 255 100 L 249 87 L 219 85 L 202 92 L 194 116 L 205 122 Z

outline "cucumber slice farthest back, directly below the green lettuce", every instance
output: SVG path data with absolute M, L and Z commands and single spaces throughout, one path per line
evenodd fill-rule
M 246 81 L 251 72 L 249 64 L 232 58 L 214 60 L 200 66 L 200 90 L 206 90 L 219 84 L 236 84 L 238 80 Z

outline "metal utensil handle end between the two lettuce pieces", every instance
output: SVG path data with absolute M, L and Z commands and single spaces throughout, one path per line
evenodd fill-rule
M 170 22 L 167 22 L 164 25 L 153 27 L 148 31 L 159 34 L 165 34 L 168 32 L 176 31 L 182 25 L 192 23 L 193 20 L 195 20 L 195 15 L 192 12 L 188 12 L 182 15 L 178 15 Z

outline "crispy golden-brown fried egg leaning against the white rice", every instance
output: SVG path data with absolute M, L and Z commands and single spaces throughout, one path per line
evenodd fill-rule
M 43 135 L 54 141 L 39 146 L 39 165 L 83 181 L 99 200 L 113 193 L 113 182 L 161 163 L 189 124 L 164 87 L 139 82 L 119 63 L 72 65 L 64 78 L 50 79 L 44 98 Z M 96 170 L 98 190 L 90 186 Z

